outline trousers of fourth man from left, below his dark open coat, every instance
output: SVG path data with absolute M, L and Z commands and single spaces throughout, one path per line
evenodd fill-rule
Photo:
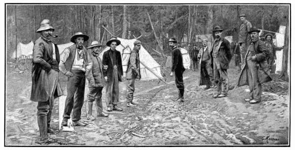
M 118 69 L 113 69 L 113 78 L 106 83 L 107 107 L 117 105 L 119 102 L 119 79 Z

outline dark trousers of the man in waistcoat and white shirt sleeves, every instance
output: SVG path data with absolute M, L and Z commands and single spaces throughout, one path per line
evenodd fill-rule
M 68 77 L 67 96 L 65 99 L 63 118 L 69 119 L 71 111 L 73 109 L 72 120 L 78 121 L 81 119 L 81 109 L 84 103 L 86 78 L 85 72 L 82 70 L 71 70 L 71 72 L 74 74 L 74 76 Z

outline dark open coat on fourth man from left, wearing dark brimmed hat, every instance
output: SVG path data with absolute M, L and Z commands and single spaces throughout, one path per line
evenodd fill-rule
M 103 69 L 103 75 L 104 77 L 108 77 L 108 82 L 113 80 L 113 57 L 112 57 L 112 50 L 109 49 L 108 51 L 105 51 L 102 56 L 102 65 L 108 66 L 107 69 Z M 117 69 L 118 69 L 118 80 L 122 82 L 122 75 L 123 75 L 123 67 L 122 67 L 122 59 L 121 59 L 121 53 L 117 50 L 115 50 L 116 56 L 117 56 Z

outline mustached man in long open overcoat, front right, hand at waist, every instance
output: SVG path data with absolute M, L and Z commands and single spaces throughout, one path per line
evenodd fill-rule
M 261 101 L 261 84 L 271 81 L 270 71 L 267 64 L 268 52 L 265 43 L 258 38 L 260 30 L 253 27 L 248 32 L 251 34 L 251 43 L 246 52 L 242 71 L 237 86 L 249 85 L 249 98 L 244 99 L 250 104 Z

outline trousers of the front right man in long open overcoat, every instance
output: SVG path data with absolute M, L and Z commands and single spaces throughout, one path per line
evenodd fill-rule
M 261 84 L 258 79 L 259 63 L 252 60 L 247 60 L 247 75 L 250 89 L 250 98 L 256 101 L 261 100 Z

